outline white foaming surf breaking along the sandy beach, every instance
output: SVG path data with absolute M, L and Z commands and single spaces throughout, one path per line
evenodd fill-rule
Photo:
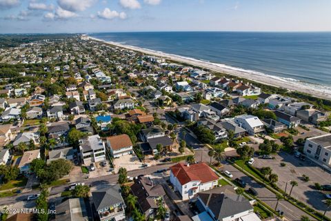
M 185 56 L 181 56 L 181 55 L 175 55 L 175 54 L 171 54 L 171 53 L 165 53 L 163 51 L 159 51 L 159 50 L 151 50 L 149 48 L 141 48 L 139 46 L 131 46 L 131 45 L 126 45 L 126 44 L 121 44 L 119 42 L 116 42 L 116 41 L 106 41 L 106 40 L 103 40 L 103 39 L 97 39 L 95 37 L 92 37 L 92 39 L 95 39 L 97 41 L 103 41 L 103 42 L 108 42 L 110 44 L 114 44 L 114 45 L 119 45 L 119 46 L 128 46 L 132 49 L 136 49 L 136 50 L 146 50 L 147 52 L 151 52 L 151 53 L 157 53 L 159 54 L 159 56 L 164 56 L 164 57 L 177 57 L 177 58 L 180 58 L 180 59 L 186 59 L 186 60 L 189 60 L 189 61 L 195 61 L 195 62 L 199 62 L 199 63 L 202 63 L 202 64 L 206 64 L 206 65 L 212 65 L 212 66 L 217 66 L 219 68 L 223 68 L 224 70 L 231 70 L 231 71 L 234 71 L 236 73 L 245 73 L 245 74 L 249 74 L 249 75 L 256 75 L 256 76 L 261 76 L 261 77 L 268 77 L 270 79 L 276 79 L 278 81 L 283 81 L 285 83 L 288 83 L 288 84 L 293 84 L 295 86 L 304 86 L 305 88 L 307 88 L 308 90 L 311 88 L 312 90 L 316 90 L 320 93 L 325 93 L 325 94 L 330 94 L 331 95 L 331 86 L 327 86 L 327 85 L 323 85 L 323 84 L 312 84 L 312 83 L 309 83 L 309 82 L 305 82 L 305 81 L 301 81 L 299 79 L 294 79 L 294 78 L 291 78 L 291 77 L 278 77 L 278 76 L 275 76 L 275 75 L 268 75 L 268 74 L 265 74 L 265 73 L 261 73 L 259 71 L 256 71 L 256 70 L 249 70 L 249 69 L 244 69 L 244 68 L 239 68 L 239 67 L 234 67 L 234 66 L 229 66 L 227 64 L 221 64 L 221 63 L 215 63 L 215 62 L 211 62 L 211 61 L 206 61 L 206 60 L 203 60 L 203 59 L 196 59 L 196 58 L 193 58 L 193 57 L 185 57 Z M 231 73 L 230 73 L 231 74 Z M 245 77 L 243 77 L 245 78 Z M 308 91 L 307 91 L 308 92 Z

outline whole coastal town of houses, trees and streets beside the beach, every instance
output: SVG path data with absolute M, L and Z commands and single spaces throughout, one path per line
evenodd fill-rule
M 1 47 L 0 87 L 1 220 L 331 220 L 328 99 L 87 35 Z

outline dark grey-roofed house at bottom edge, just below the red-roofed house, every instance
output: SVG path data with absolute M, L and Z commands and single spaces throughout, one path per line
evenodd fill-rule
M 254 213 L 249 200 L 238 195 L 229 186 L 210 189 L 197 194 L 196 204 L 202 213 L 192 217 L 192 220 L 217 221 L 261 221 Z M 201 219 L 202 218 L 202 219 Z

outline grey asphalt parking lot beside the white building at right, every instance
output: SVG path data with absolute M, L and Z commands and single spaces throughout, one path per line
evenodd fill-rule
M 310 160 L 299 160 L 285 152 L 281 152 L 274 156 L 274 160 L 263 160 L 255 158 L 253 166 L 261 168 L 263 166 L 270 166 L 273 173 L 276 173 L 279 178 L 277 186 L 285 190 L 285 184 L 288 182 L 287 193 L 290 193 L 291 185 L 290 180 L 295 180 L 298 186 L 294 186 L 291 196 L 305 202 L 312 206 L 312 208 L 319 210 L 323 213 L 326 206 L 323 203 L 325 197 L 321 191 L 314 189 L 314 183 L 330 184 L 331 174 L 323 171 L 319 166 L 311 162 Z M 285 163 L 285 166 L 281 166 L 281 163 Z M 310 181 L 304 182 L 302 180 L 303 175 L 310 177 Z M 327 212 L 327 215 L 331 215 L 331 211 Z

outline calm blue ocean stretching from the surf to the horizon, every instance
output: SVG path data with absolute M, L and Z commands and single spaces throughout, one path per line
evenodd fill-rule
M 88 35 L 331 89 L 331 32 L 105 32 Z

